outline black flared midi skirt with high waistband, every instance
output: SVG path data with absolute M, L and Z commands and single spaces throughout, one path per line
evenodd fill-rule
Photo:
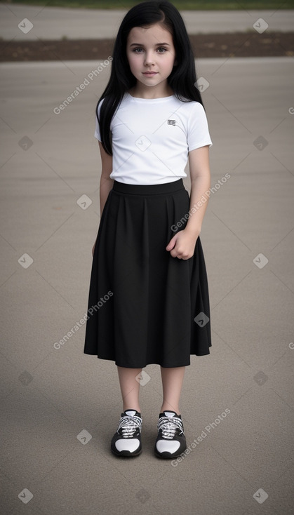
M 189 260 L 166 250 L 176 230 L 185 229 L 187 213 L 182 179 L 143 186 L 114 181 L 93 256 L 85 354 L 128 368 L 187 366 L 191 354 L 209 354 L 200 237 Z

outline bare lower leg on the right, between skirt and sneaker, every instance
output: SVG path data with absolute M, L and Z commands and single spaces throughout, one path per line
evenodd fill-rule
M 160 413 L 165 410 L 172 410 L 180 415 L 179 402 L 184 375 L 185 366 L 178 366 L 175 368 L 161 367 L 163 403 Z

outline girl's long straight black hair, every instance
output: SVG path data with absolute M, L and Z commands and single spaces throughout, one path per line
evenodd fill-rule
M 199 88 L 195 84 L 196 70 L 192 47 L 185 23 L 178 9 L 166 0 L 141 2 L 132 7 L 121 22 L 114 43 L 110 78 L 96 107 L 102 147 L 109 155 L 112 155 L 110 123 L 123 99 L 123 95 L 135 86 L 137 81 L 128 65 L 126 55 L 128 34 L 133 27 L 145 27 L 155 23 L 159 23 L 173 36 L 177 64 L 174 65 L 171 75 L 168 76 L 168 85 L 182 102 L 196 100 L 203 105 Z M 98 116 L 98 106 L 102 100 Z

